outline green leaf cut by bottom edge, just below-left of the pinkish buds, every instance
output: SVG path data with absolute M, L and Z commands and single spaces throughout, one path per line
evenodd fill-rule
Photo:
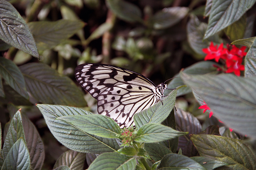
M 136 160 L 118 153 L 99 155 L 89 166 L 88 170 L 134 170 Z

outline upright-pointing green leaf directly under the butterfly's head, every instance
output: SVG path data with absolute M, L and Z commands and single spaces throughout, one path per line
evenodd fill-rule
M 147 123 L 161 123 L 163 122 L 171 110 L 173 109 L 176 101 L 176 91 L 174 89 L 168 96 L 163 99 L 162 102 L 149 107 L 148 109 L 142 110 L 139 113 L 134 114 L 133 120 L 136 128 L 139 129 L 141 126 Z

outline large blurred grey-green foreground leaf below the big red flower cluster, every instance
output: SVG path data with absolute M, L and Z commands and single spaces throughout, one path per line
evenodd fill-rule
M 228 127 L 242 134 L 256 136 L 256 77 L 244 78 L 232 74 L 192 76 L 181 73 L 181 78 Z

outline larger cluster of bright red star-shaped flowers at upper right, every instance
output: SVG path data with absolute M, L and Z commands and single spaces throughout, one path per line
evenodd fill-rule
M 245 46 L 240 49 L 235 45 L 232 45 L 232 49 L 223 48 L 223 43 L 218 45 L 213 45 L 211 42 L 208 48 L 203 48 L 202 51 L 206 54 L 204 60 L 215 60 L 219 62 L 220 59 L 225 61 L 226 64 L 226 73 L 235 73 L 237 76 L 240 76 L 240 71 L 244 70 L 244 65 L 242 65 L 243 57 L 247 54 L 244 52 L 246 49 Z

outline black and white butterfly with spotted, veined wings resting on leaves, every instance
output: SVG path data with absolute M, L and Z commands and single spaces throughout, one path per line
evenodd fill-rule
M 97 100 L 99 114 L 114 119 L 121 128 L 133 123 L 133 115 L 164 97 L 167 85 L 156 86 L 145 76 L 113 65 L 86 63 L 78 65 L 75 77 Z

